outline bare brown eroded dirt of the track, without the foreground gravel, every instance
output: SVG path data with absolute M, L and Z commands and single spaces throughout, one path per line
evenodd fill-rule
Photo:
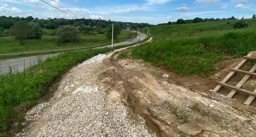
M 239 100 L 209 92 L 216 86 L 212 80 L 214 76 L 179 76 L 141 60 L 116 59 L 122 50 L 106 54 L 102 63 L 87 64 L 70 70 L 62 79 L 63 87 L 56 92 L 57 98 L 52 100 L 52 105 L 64 98 L 73 97 L 71 93 L 82 85 L 97 86 L 98 92 L 106 97 L 106 104 L 124 104 L 132 124 L 144 127 L 145 120 L 148 132 L 155 133 L 158 137 L 256 136 L 254 104 L 245 106 Z M 221 72 L 222 68 L 219 69 Z M 163 74 L 170 76 L 163 78 Z M 60 92 L 62 94 L 59 97 Z M 111 112 L 112 106 L 106 107 Z M 39 135 L 40 129 L 47 130 L 44 127 L 55 121 L 47 118 L 48 112 L 52 113 L 52 107 L 44 110 L 37 121 L 28 125 L 27 131 L 30 134 L 27 136 Z

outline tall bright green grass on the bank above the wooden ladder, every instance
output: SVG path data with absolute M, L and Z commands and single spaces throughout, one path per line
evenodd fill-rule
M 164 40 L 134 47 L 133 58 L 165 65 L 180 74 L 205 75 L 215 72 L 215 63 L 227 55 L 242 56 L 256 49 L 255 29 L 234 30 L 204 37 Z

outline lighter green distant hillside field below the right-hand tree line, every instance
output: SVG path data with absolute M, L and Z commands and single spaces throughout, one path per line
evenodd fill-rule
M 256 19 L 244 19 L 248 24 L 248 28 L 256 28 Z M 153 35 L 154 41 L 177 39 L 189 37 L 191 25 L 191 37 L 200 37 L 233 30 L 233 24 L 238 20 L 226 20 L 208 23 L 192 23 L 192 24 L 176 24 L 150 27 L 150 34 Z M 140 29 L 143 32 L 143 29 Z M 145 33 L 147 33 L 145 29 Z

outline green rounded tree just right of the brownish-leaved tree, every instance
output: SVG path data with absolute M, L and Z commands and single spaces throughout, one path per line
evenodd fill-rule
M 31 27 L 28 39 L 41 39 L 44 31 L 40 27 L 39 23 L 29 22 L 27 24 Z

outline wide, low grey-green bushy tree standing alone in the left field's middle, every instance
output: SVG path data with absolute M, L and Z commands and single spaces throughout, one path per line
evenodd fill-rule
M 59 36 L 57 39 L 57 43 L 80 43 L 82 42 L 81 37 L 74 30 L 72 26 L 60 26 L 56 35 Z

